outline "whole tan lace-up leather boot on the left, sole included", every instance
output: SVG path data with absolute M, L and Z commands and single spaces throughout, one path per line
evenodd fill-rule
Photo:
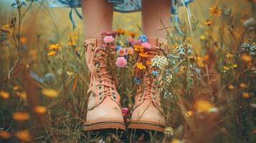
M 84 46 L 86 63 L 90 71 L 90 85 L 87 92 L 90 97 L 87 102 L 84 130 L 125 130 L 120 95 L 105 64 L 108 47 L 103 46 L 103 39 L 88 39 Z

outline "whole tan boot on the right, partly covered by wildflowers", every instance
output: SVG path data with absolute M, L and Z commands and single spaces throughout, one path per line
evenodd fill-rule
M 151 61 L 154 56 L 161 55 L 161 49 L 168 49 L 166 39 L 149 38 L 148 43 L 152 47 L 146 50 L 149 55 L 146 57 L 146 61 Z M 164 132 L 166 119 L 163 117 L 160 90 L 157 85 L 159 75 L 153 74 L 153 71 L 153 68 L 147 68 L 141 84 L 138 85 L 128 129 L 150 129 Z

